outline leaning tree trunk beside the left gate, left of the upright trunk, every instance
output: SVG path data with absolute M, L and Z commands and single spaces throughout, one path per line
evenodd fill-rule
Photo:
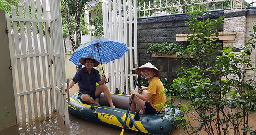
M 71 45 L 72 45 L 72 50 L 74 52 L 76 50 L 76 43 L 73 38 L 73 31 L 72 31 L 70 13 L 69 13 L 69 5 L 68 5 L 67 0 L 64 0 L 64 1 L 65 1 L 65 5 L 66 5 L 66 18 L 67 18 L 67 24 L 68 24 L 68 29 L 69 29 L 69 36 L 70 36 L 70 41 L 71 41 Z

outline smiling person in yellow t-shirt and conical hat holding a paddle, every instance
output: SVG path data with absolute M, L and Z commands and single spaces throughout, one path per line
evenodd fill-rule
M 148 87 L 142 87 L 140 90 L 142 94 L 136 92 L 132 89 L 131 94 L 134 95 L 131 104 L 131 111 L 135 112 L 136 104 L 141 108 L 139 113 L 141 114 L 160 114 L 158 110 L 161 108 L 156 106 L 156 104 L 165 104 L 166 96 L 159 93 L 161 90 L 165 90 L 163 83 L 158 79 L 161 76 L 161 72 L 151 63 L 146 63 L 135 70 L 135 73 L 139 76 L 145 77 L 149 81 Z M 130 95 L 131 98 L 131 95 Z M 129 101 L 130 101 L 129 98 Z M 162 111 L 164 111 L 163 108 Z

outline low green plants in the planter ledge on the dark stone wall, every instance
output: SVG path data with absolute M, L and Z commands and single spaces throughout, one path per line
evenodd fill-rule
M 186 56 L 185 52 L 185 46 L 181 44 L 176 44 L 176 43 L 149 43 L 148 44 L 148 54 L 153 54 L 154 52 L 158 56 L 165 56 L 165 55 L 172 55 L 172 54 L 177 54 L 181 55 L 183 57 Z

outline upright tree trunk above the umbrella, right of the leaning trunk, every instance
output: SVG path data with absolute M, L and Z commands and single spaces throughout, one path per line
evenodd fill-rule
M 80 0 L 75 0 L 75 20 L 76 20 L 76 48 L 81 44 L 81 3 Z M 77 65 L 76 70 L 82 69 L 82 65 Z

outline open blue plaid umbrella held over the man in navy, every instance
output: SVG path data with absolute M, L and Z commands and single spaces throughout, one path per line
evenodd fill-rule
M 127 51 L 128 48 L 125 43 L 108 38 L 100 38 L 80 45 L 80 47 L 78 47 L 72 54 L 69 61 L 72 61 L 75 65 L 82 65 L 79 62 L 79 59 L 92 55 L 102 66 L 102 63 L 106 64 L 110 61 L 121 58 Z M 105 76 L 104 71 L 103 75 Z

